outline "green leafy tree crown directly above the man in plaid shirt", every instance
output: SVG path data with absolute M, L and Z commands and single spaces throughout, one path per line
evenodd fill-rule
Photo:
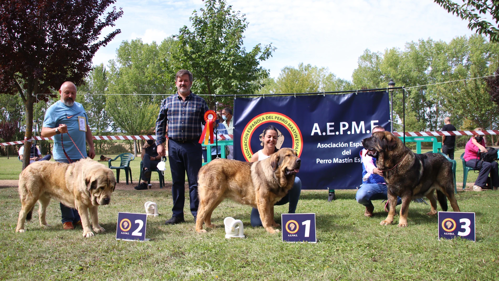
M 193 73 L 192 91 L 197 94 L 252 94 L 260 89 L 258 81 L 268 77 L 268 72 L 259 64 L 275 48 L 257 44 L 247 52 L 243 47 L 248 27 L 245 15 L 224 0 L 206 0 L 200 11 L 190 17 L 193 30 L 184 26 L 174 36 L 178 48 L 164 64 L 164 80 L 173 85 L 175 73 L 183 68 Z M 217 101 L 227 103 L 226 99 Z M 207 97 L 206 101 L 214 108 L 213 99 Z

